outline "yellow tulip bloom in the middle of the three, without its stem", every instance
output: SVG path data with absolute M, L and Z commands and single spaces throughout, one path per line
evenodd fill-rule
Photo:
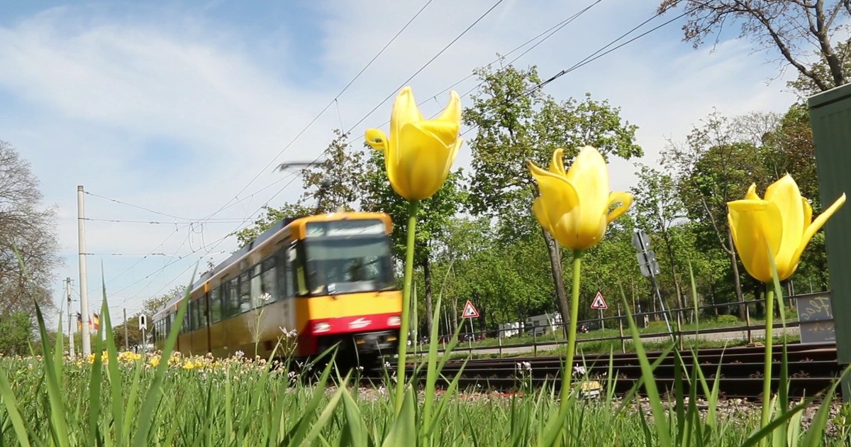
M 608 167 L 597 149 L 583 147 L 568 171 L 563 153 L 562 149 L 552 153 L 549 171 L 529 162 L 540 189 L 532 212 L 559 244 L 574 251 L 589 249 L 603 239 L 606 226 L 630 208 L 632 195 L 609 193 Z M 615 203 L 620 205 L 609 211 Z

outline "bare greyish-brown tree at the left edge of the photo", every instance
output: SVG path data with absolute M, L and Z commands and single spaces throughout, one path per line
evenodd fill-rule
M 50 289 L 62 264 L 55 228 L 56 210 L 42 204 L 30 164 L 0 141 L 0 318 L 33 317 L 35 303 L 54 309 Z

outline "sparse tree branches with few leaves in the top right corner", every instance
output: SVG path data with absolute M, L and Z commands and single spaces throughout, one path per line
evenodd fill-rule
M 797 70 L 800 89 L 825 91 L 848 82 L 848 52 L 834 43 L 851 17 L 848 0 L 663 0 L 659 12 L 681 4 L 689 17 L 683 40 L 694 48 L 728 21 L 740 22 L 740 37 L 750 38 L 758 49 L 780 53 L 780 61 Z M 810 54 L 821 65 L 808 63 Z

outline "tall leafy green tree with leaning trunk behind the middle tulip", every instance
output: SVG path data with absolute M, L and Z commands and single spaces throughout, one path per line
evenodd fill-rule
M 507 221 L 531 215 L 538 191 L 528 172 L 528 162 L 548 165 L 558 147 L 574 157 L 582 146 L 597 147 L 603 157 L 640 157 L 636 126 L 623 123 L 620 109 L 608 101 L 557 101 L 540 89 L 533 66 L 519 70 L 504 66 L 477 69 L 482 81 L 464 111 L 464 123 L 477 128 L 470 141 L 473 175 L 471 209 L 477 215 L 499 215 Z M 562 314 L 568 315 L 561 255 L 555 239 L 540 228 L 550 254 L 551 272 Z

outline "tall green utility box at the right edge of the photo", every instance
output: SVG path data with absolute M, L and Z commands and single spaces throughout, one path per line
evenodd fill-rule
M 844 192 L 851 196 L 851 84 L 827 90 L 808 100 L 813 128 L 815 164 L 822 208 Z M 836 330 L 839 364 L 851 364 L 851 204 L 846 203 L 825 225 L 827 271 Z M 851 383 L 842 383 L 842 397 L 851 401 Z

